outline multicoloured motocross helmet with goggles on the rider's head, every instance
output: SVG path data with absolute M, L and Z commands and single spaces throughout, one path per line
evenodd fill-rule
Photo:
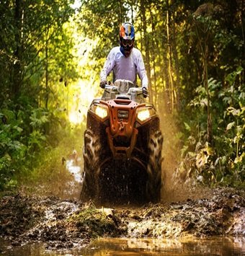
M 135 29 L 130 22 L 125 22 L 120 27 L 120 46 L 125 57 L 130 56 L 135 41 Z

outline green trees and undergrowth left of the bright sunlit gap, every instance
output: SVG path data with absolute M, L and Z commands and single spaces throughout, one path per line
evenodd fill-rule
M 58 80 L 74 81 L 73 0 L 0 2 L 0 190 L 58 144 L 66 115 Z M 63 106 L 61 106 L 63 107 Z

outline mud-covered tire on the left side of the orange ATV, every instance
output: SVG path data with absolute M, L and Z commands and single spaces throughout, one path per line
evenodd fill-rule
M 96 136 L 92 130 L 87 129 L 84 132 L 84 170 L 81 181 L 81 200 L 97 197 L 100 151 L 99 136 Z

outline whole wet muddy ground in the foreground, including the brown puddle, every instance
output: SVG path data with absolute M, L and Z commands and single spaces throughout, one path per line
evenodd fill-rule
M 0 198 L 0 255 L 244 254 L 244 190 L 202 188 L 181 201 L 99 206 L 77 199 L 80 169 L 67 168 L 62 196 L 42 185 L 39 195 Z

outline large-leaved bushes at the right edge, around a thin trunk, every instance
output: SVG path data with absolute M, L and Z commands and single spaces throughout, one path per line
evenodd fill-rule
M 204 177 L 206 184 L 242 185 L 244 183 L 244 86 L 235 84 L 241 67 L 226 76 L 228 83 L 209 79 L 211 112 L 213 113 L 213 143 L 206 142 L 207 94 L 200 86 L 190 102 L 191 120 L 184 123 L 189 138 L 182 150 L 183 156 L 194 162 L 196 176 Z M 194 108 L 193 108 L 194 107 Z M 192 138 L 192 139 L 190 139 Z

